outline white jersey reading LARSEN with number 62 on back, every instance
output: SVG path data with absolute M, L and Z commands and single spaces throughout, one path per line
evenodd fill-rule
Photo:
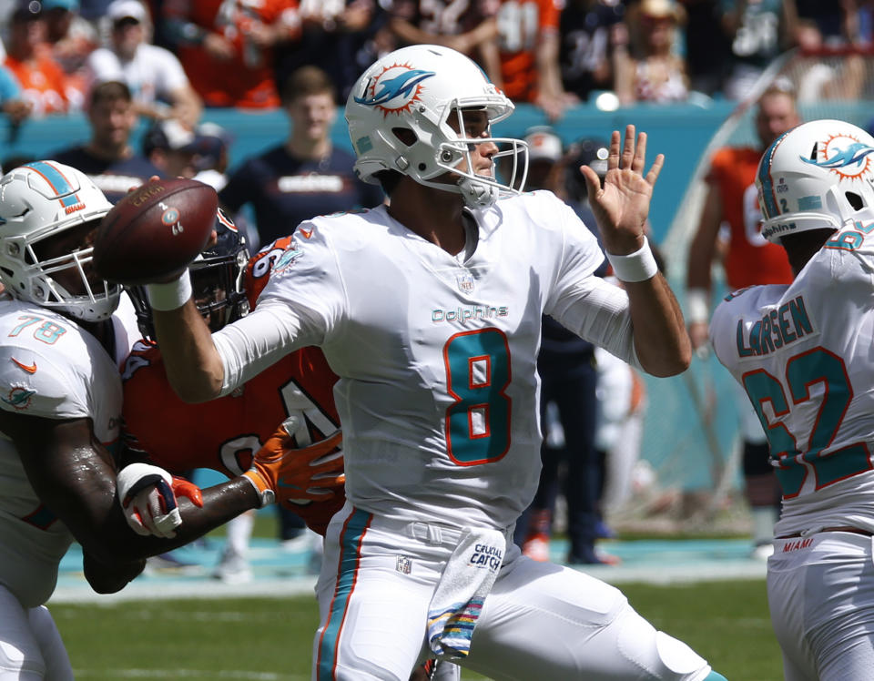
M 783 488 L 777 536 L 874 532 L 872 284 L 874 238 L 845 228 L 792 284 L 737 291 L 710 322 L 716 356 L 767 433 Z

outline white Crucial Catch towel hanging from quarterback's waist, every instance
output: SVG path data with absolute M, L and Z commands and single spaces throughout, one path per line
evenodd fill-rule
M 503 564 L 502 532 L 465 527 L 428 607 L 428 645 L 438 658 L 471 652 L 473 627 Z

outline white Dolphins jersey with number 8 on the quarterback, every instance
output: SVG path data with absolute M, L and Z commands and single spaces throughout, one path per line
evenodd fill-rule
M 256 309 L 213 336 L 225 392 L 322 348 L 356 508 L 515 522 L 540 472 L 542 313 L 637 365 L 627 295 L 593 276 L 604 256 L 571 208 L 540 191 L 472 215 L 458 256 L 385 207 L 303 222 Z

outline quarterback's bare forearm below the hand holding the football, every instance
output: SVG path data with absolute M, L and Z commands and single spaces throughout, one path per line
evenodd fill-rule
M 173 390 L 188 402 L 217 397 L 224 367 L 194 301 L 189 299 L 177 310 L 154 310 L 153 314 L 158 346 Z

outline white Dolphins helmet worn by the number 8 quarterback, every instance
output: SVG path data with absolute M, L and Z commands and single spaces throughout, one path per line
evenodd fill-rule
M 381 170 L 396 170 L 420 184 L 460 193 L 470 208 L 491 206 L 500 195 L 518 194 L 528 171 L 527 145 L 512 137 L 465 137 L 462 111 L 485 110 L 490 126 L 513 113 L 513 102 L 471 59 L 448 47 L 414 45 L 383 56 L 352 87 L 346 121 L 358 157 L 355 172 L 371 184 Z M 457 116 L 456 133 L 449 117 Z M 412 133 L 412 135 L 411 135 Z M 491 132 L 489 133 L 491 134 Z M 498 158 L 509 157 L 509 179 L 476 175 L 456 168 L 471 146 L 497 145 Z M 446 172 L 458 182 L 433 181 Z

